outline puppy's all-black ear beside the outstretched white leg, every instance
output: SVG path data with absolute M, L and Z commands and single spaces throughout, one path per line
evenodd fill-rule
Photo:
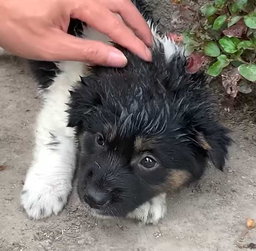
M 79 127 L 91 111 L 102 105 L 99 93 L 85 85 L 81 85 L 73 91 L 69 91 L 68 127 Z

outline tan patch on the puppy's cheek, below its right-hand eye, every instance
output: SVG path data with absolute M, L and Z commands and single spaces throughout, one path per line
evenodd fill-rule
M 185 170 L 172 170 L 167 177 L 167 189 L 178 189 L 191 179 L 191 174 Z

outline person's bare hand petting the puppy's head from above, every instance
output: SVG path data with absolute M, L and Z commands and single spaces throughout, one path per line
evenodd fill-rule
M 68 35 L 70 18 L 80 19 L 145 61 L 151 60 L 151 31 L 130 0 L 0 0 L 0 47 L 27 59 L 127 64 L 123 53 L 111 45 Z

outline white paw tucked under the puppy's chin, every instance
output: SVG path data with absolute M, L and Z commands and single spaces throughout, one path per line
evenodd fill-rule
M 143 223 L 157 224 L 166 213 L 166 194 L 160 194 L 148 202 L 145 202 L 139 208 L 128 215 L 129 218 L 135 218 Z

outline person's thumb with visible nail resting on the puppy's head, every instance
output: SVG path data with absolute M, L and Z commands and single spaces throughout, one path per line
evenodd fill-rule
M 46 44 L 45 60 L 70 60 L 91 65 L 124 67 L 127 58 L 117 48 L 100 41 L 74 37 L 61 30 L 55 30 L 51 41 Z

